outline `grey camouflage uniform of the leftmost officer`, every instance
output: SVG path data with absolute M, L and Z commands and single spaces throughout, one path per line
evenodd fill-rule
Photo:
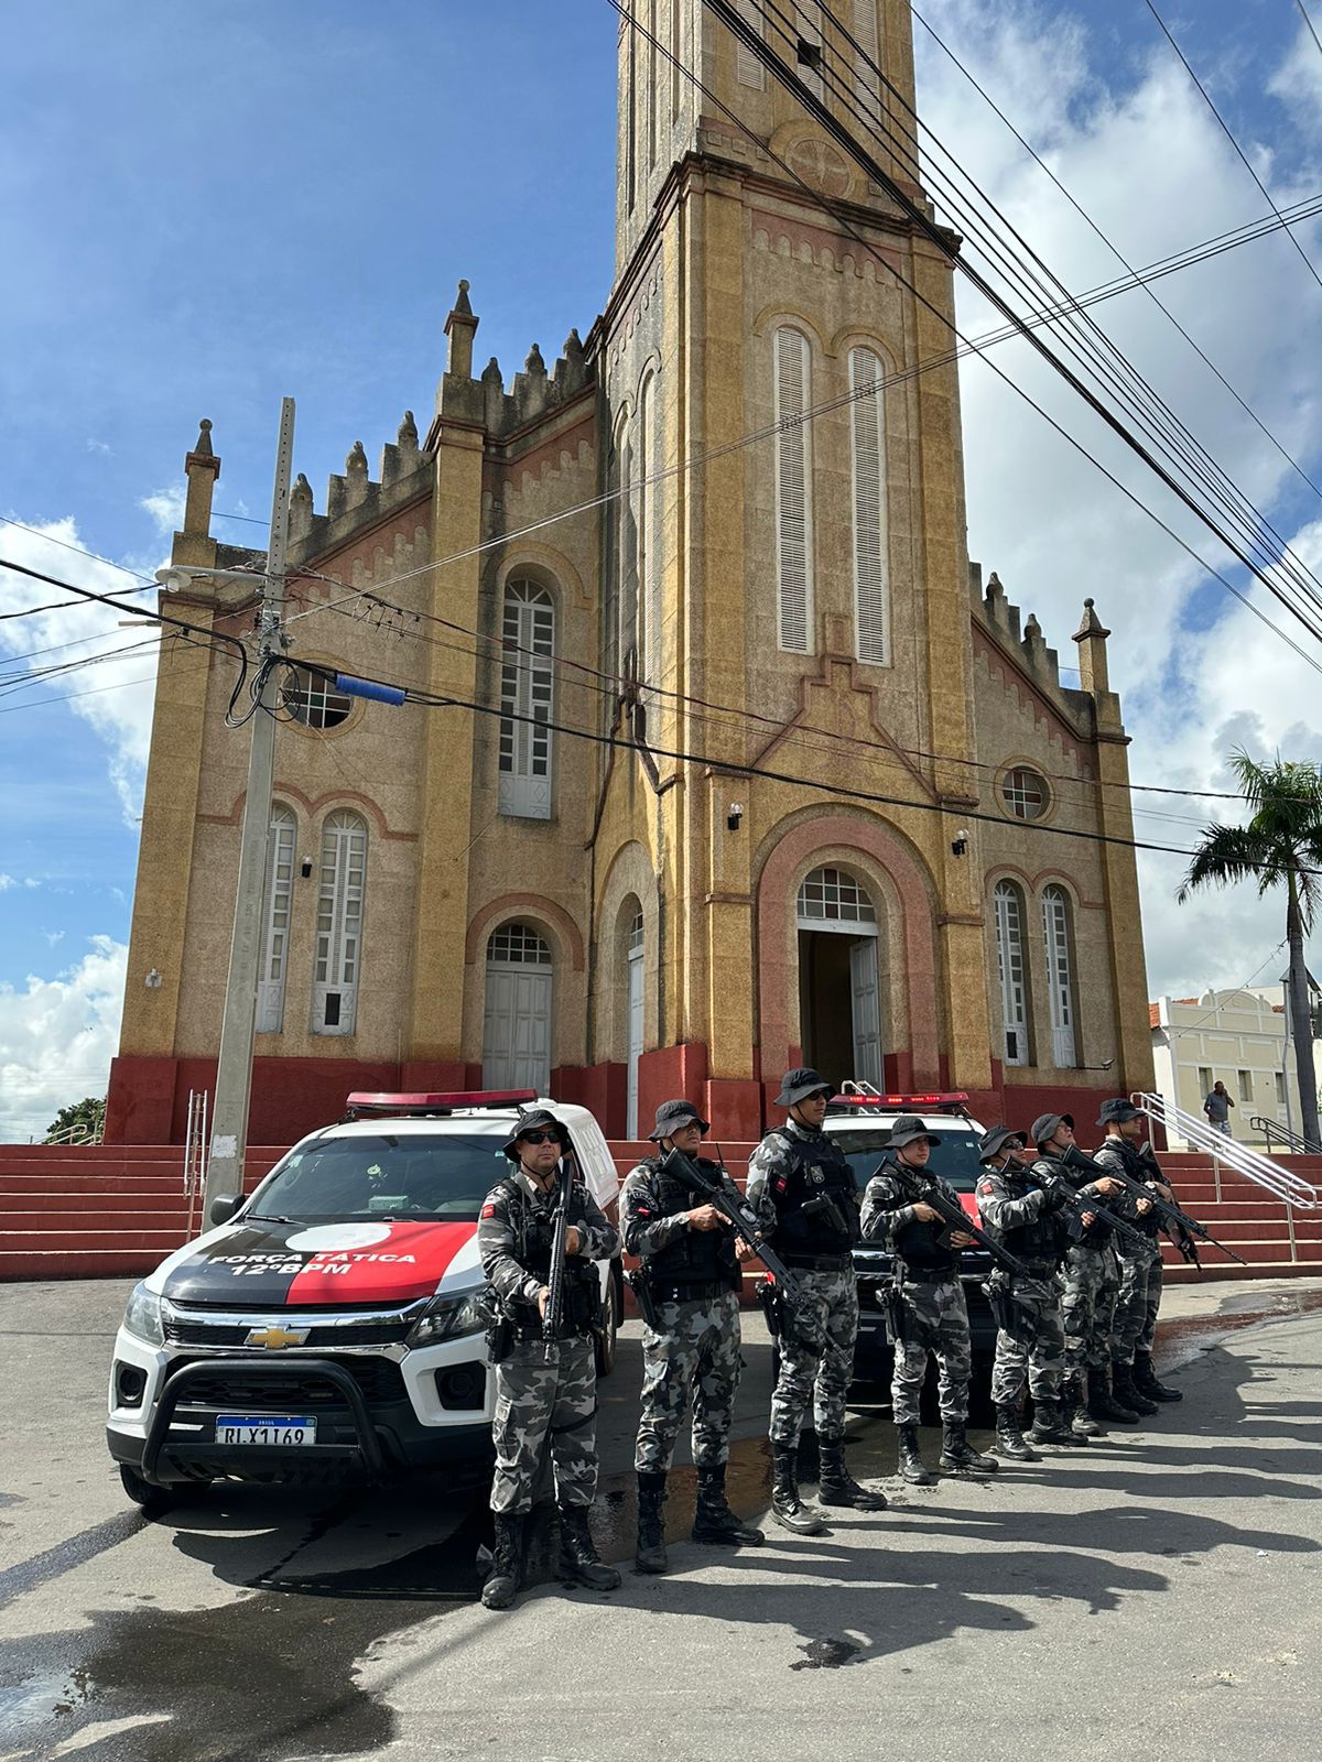
M 590 1300 L 589 1281 L 594 1284 L 598 1277 L 590 1262 L 608 1260 L 620 1239 L 592 1195 L 578 1188 L 569 1223 L 578 1230 L 582 1244 L 578 1255 L 569 1258 L 568 1337 L 557 1341 L 548 1357 L 536 1302 L 546 1283 L 539 1262 L 545 1258 L 543 1246 L 550 1242 L 557 1203 L 559 1181 L 548 1193 L 541 1193 L 520 1168 L 486 1195 L 478 1223 L 483 1272 L 518 1336 L 509 1357 L 495 1366 L 492 1420 L 492 1510 L 515 1517 L 532 1505 L 548 1440 L 562 1508 L 589 1507 L 598 1484 L 596 1344 L 590 1322 L 582 1318 Z

